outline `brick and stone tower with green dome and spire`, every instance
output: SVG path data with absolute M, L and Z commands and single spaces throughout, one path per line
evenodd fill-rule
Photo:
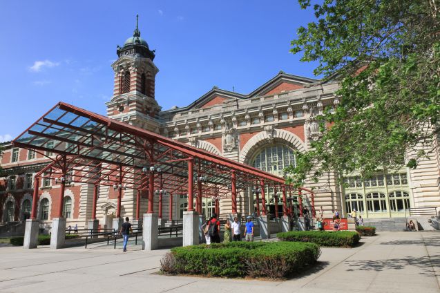
M 113 96 L 106 102 L 107 115 L 113 119 L 159 132 L 155 76 L 159 69 L 153 63 L 155 50 L 140 37 L 139 16 L 133 37 L 126 39 L 124 46 L 117 46 L 118 59 L 111 64 L 115 72 Z

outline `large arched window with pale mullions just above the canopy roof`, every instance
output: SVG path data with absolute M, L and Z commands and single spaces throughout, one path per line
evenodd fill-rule
M 296 166 L 296 158 L 294 150 L 286 145 L 271 144 L 255 156 L 251 165 L 262 171 L 283 176 L 285 167 Z

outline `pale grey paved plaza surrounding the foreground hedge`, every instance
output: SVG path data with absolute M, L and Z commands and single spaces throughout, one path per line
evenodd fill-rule
M 440 234 L 381 232 L 354 248 L 323 248 L 287 281 L 162 276 L 167 250 L 95 245 L 57 251 L 0 248 L 0 292 L 440 292 Z

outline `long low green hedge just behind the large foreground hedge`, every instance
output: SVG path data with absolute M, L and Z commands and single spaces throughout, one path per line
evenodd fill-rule
M 355 231 L 289 231 L 278 233 L 280 240 L 311 242 L 320 246 L 353 247 L 359 243 L 358 233 Z

